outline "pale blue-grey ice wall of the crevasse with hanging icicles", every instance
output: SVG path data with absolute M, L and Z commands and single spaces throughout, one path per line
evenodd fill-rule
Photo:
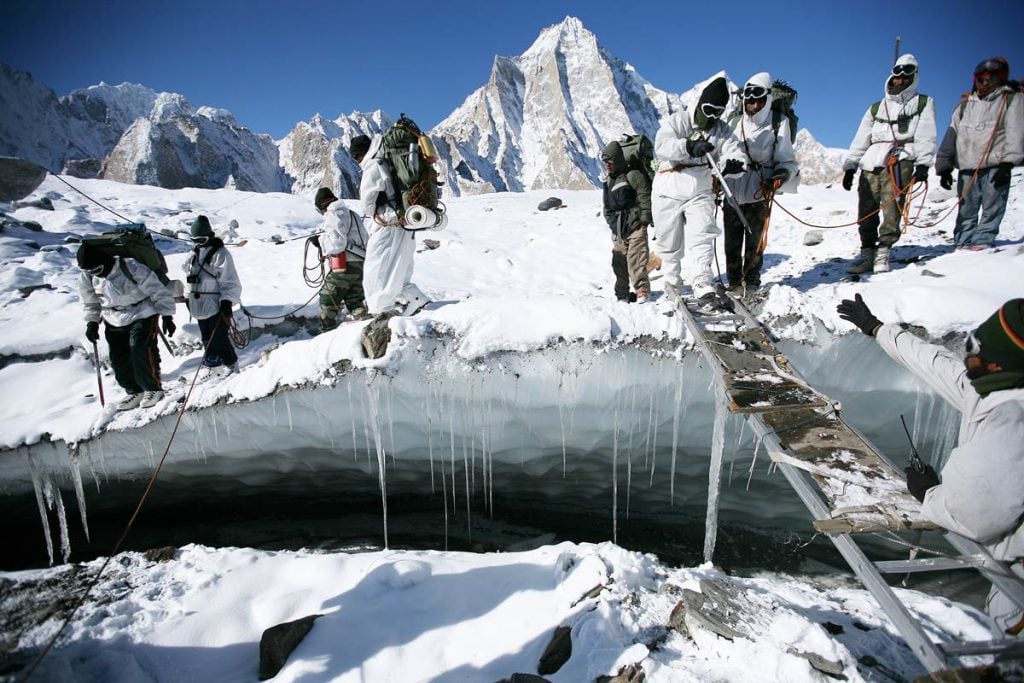
M 921 452 L 940 464 L 955 415 L 869 340 L 786 352 L 898 464 L 908 451 L 901 413 Z M 165 447 L 160 482 L 181 497 L 301 496 L 298 482 L 332 475 L 343 481 L 339 495 L 376 489 L 385 545 L 389 498 L 417 490 L 441 497 L 445 524 L 471 506 L 492 509 L 497 490 L 505 500 L 602 515 L 612 540 L 631 511 L 700 510 L 708 500 L 716 391 L 693 353 L 565 344 L 469 365 L 429 340 L 406 353 L 389 366 L 400 368 L 394 374 L 348 372 L 330 385 L 187 412 L 169 445 L 173 416 L 85 443 L 0 454 L 0 494 L 57 521 L 59 540 L 45 540 L 51 561 L 54 545 L 63 559 L 70 552 L 75 513 L 65 501 L 76 502 L 87 528 L 90 502 L 115 482 L 144 482 Z M 799 503 L 767 473 L 767 459 L 748 474 L 753 442 L 741 424 L 730 416 L 716 439 L 726 460 L 720 504 L 760 520 L 792 520 Z

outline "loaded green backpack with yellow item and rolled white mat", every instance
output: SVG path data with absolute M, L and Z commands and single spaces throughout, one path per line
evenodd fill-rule
M 402 114 L 384 133 L 384 159 L 392 171 L 396 196 L 392 199 L 399 217 L 414 204 L 436 209 L 439 193 L 433 163 L 433 143 L 416 123 Z

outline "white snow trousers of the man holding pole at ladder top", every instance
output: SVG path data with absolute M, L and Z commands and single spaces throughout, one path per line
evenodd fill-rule
M 678 293 L 682 272 L 693 288 L 694 297 L 714 292 L 711 262 L 720 230 L 715 223 L 715 196 L 708 171 L 657 173 L 651 190 L 651 209 L 657 233 L 654 249 L 662 257 L 666 289 Z

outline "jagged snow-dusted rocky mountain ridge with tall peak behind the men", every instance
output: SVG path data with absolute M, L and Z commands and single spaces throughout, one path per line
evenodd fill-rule
M 100 84 L 57 98 L 0 65 L 0 155 L 82 177 L 164 187 L 224 186 L 354 197 L 351 138 L 386 130 L 390 117 L 319 114 L 278 141 L 230 113 L 181 95 Z M 611 96 L 611 94 L 614 96 Z M 624 133 L 653 137 L 680 95 L 644 80 L 574 17 L 543 30 L 519 56 L 496 56 L 487 83 L 430 131 L 450 195 L 578 189 L 599 183 L 600 152 Z M 806 130 L 797 141 L 803 182 L 834 180 L 836 151 Z

